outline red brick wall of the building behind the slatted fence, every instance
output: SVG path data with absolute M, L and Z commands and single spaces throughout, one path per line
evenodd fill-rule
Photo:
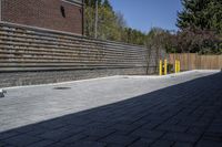
M 2 21 L 7 22 L 82 34 L 82 19 L 81 6 L 61 0 L 2 0 Z

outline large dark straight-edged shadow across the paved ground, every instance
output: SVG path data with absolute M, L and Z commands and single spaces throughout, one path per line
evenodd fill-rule
M 216 146 L 221 94 L 218 73 L 0 133 L 0 146 Z

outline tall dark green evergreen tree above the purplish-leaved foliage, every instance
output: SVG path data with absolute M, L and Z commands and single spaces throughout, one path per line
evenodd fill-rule
M 182 0 L 176 25 L 183 30 L 199 28 L 222 33 L 222 0 Z

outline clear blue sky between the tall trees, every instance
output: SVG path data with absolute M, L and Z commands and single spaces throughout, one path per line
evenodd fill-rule
M 181 0 L 110 0 L 113 9 L 120 11 L 127 24 L 148 32 L 151 27 L 178 30 L 176 12 L 182 10 Z

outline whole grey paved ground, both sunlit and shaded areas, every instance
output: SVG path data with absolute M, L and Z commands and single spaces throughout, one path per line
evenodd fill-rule
M 0 98 L 1 146 L 221 147 L 222 74 L 10 88 Z

